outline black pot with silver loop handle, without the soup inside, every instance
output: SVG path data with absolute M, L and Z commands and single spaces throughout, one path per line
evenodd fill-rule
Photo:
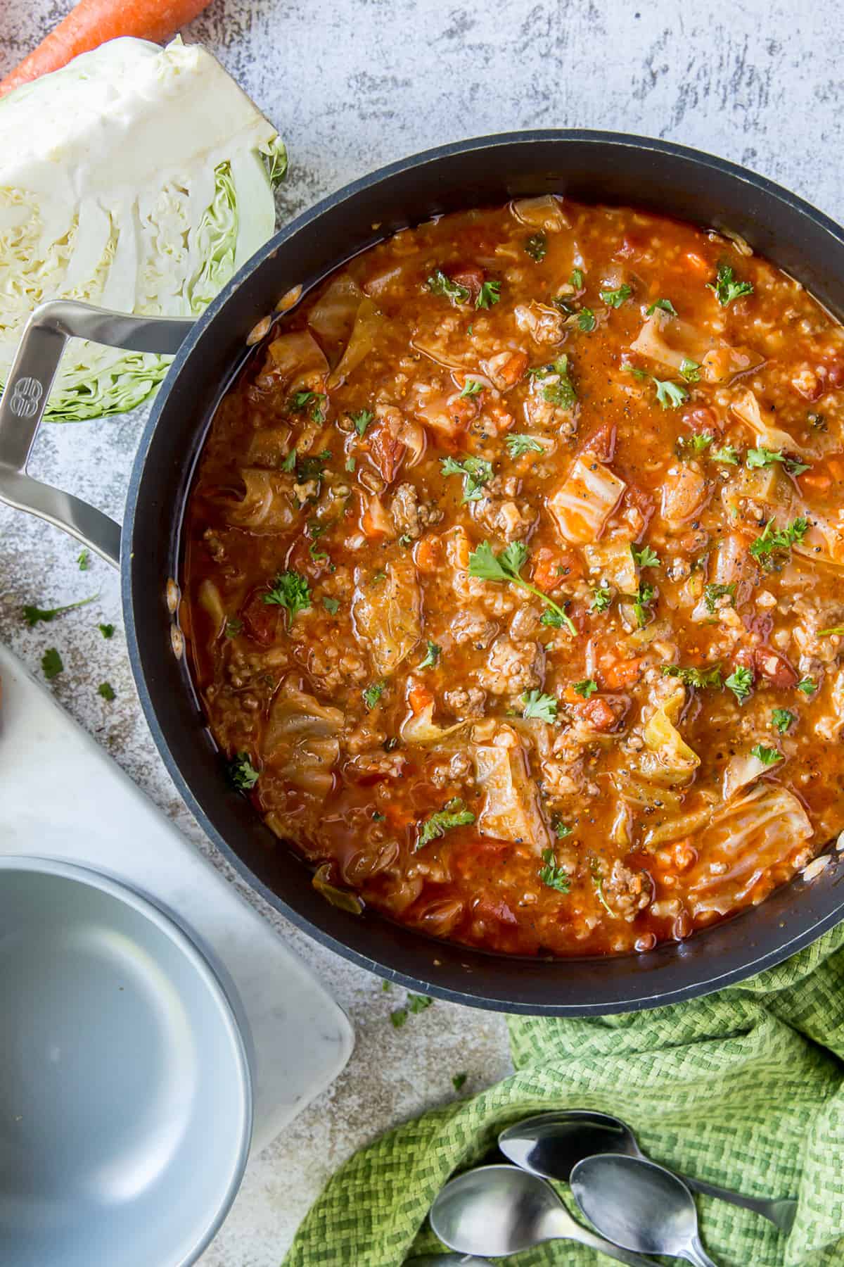
M 230 788 L 183 658 L 173 651 L 180 637 L 166 599 L 168 578 L 181 575 L 180 526 L 206 430 L 248 355 L 248 333 L 278 298 L 300 283 L 313 286 L 344 260 L 407 224 L 545 193 L 636 205 L 731 229 L 844 318 L 841 229 L 793 194 L 733 163 L 661 141 L 604 132 L 511 133 L 430 150 L 348 185 L 300 215 L 190 327 L 140 440 L 120 560 L 129 656 L 158 751 L 208 835 L 257 892 L 318 941 L 413 990 L 511 1012 L 588 1015 L 704 995 L 800 950 L 844 917 L 838 855 L 811 883 L 798 877 L 755 908 L 687 941 L 639 955 L 504 957 L 435 941 L 375 912 L 347 914 L 314 891 L 300 858 Z M 38 355 L 49 352 L 57 364 L 63 334 L 80 331 L 81 307 L 70 305 L 76 313 L 71 318 L 68 305 L 46 305 L 24 342 L 34 348 L 42 340 Z M 172 351 L 185 327 L 101 317 L 89 309 L 82 332 L 120 346 L 130 340 L 134 347 Z M 48 376 L 22 343 L 0 403 L 0 497 L 59 523 L 105 556 L 116 555 L 116 525 L 23 474 Z

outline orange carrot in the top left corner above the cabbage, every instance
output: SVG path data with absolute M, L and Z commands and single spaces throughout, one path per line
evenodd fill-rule
M 135 35 L 161 43 L 191 22 L 209 0 L 80 0 L 47 39 L 0 81 L 0 96 L 57 71 L 106 39 Z

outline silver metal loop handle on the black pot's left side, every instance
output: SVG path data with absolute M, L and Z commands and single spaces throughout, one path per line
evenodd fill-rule
M 181 317 L 132 317 L 72 299 L 35 308 L 0 397 L 0 502 L 63 528 L 116 568 L 120 525 L 72 493 L 27 474 L 49 389 L 68 338 L 163 356 L 178 351 L 192 324 Z

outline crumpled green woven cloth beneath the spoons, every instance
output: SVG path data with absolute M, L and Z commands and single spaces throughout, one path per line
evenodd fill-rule
M 511 1017 L 515 1073 L 388 1131 L 316 1201 L 285 1267 L 400 1267 L 439 1247 L 425 1216 L 497 1133 L 545 1109 L 624 1117 L 654 1161 L 752 1196 L 798 1196 L 782 1235 L 698 1197 L 724 1267 L 844 1267 L 844 925 L 740 986 L 650 1012 Z M 568 1200 L 568 1188 L 561 1188 Z M 557 1242 L 507 1259 L 586 1267 L 602 1254 Z

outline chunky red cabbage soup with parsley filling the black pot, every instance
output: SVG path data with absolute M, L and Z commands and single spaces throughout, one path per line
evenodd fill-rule
M 806 868 L 844 827 L 829 313 L 740 239 L 548 196 L 282 307 L 201 455 L 182 625 L 326 901 L 617 954 Z

